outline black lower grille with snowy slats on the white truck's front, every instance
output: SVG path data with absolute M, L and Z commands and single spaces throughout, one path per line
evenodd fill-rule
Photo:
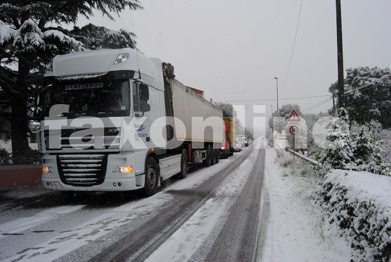
M 59 154 L 57 166 L 60 179 L 66 185 L 89 187 L 105 180 L 107 154 Z

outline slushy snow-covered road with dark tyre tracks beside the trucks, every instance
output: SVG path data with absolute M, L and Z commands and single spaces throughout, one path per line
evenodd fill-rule
M 0 261 L 256 261 L 263 163 L 250 146 L 148 198 L 3 194 Z

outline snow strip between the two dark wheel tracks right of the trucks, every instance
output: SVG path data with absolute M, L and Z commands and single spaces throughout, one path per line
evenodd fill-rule
M 225 179 L 223 188 L 207 200 L 145 261 L 185 262 L 201 246 L 203 250 L 209 250 L 205 245 L 205 240 L 208 239 L 209 243 L 213 243 L 217 238 L 218 232 L 228 218 L 230 207 L 238 199 L 250 175 L 257 154 L 258 150 L 254 150 L 250 157 L 244 160 L 239 168 Z M 216 234 L 212 234 L 212 232 Z M 211 238 L 214 240 L 211 241 Z

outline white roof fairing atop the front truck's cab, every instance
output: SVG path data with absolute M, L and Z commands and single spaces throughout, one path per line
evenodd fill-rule
M 128 58 L 123 59 L 122 63 L 114 64 L 120 54 L 128 54 Z M 53 71 L 46 70 L 46 77 L 100 75 L 109 71 L 132 70 L 135 72 L 134 78 L 138 78 L 138 69 L 140 69 L 141 78 L 147 80 L 144 82 L 154 87 L 158 87 L 158 79 L 163 77 L 160 59 L 149 58 L 131 48 L 100 49 L 57 55 L 53 58 L 52 68 Z

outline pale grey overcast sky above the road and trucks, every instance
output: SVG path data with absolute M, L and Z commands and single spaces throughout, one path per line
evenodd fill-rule
M 214 101 L 279 99 L 328 95 L 337 81 L 336 11 L 333 0 L 303 0 L 287 80 L 301 0 L 141 0 L 132 11 L 137 47 L 174 65 L 183 84 L 202 89 Z M 391 1 L 342 0 L 344 68 L 390 67 Z M 130 11 L 115 22 L 96 12 L 91 22 L 133 31 Z M 283 85 L 284 84 L 284 85 Z M 279 100 L 309 108 L 327 97 Z M 277 102 L 266 105 L 270 115 Z M 326 111 L 332 102 L 305 112 Z M 257 114 L 262 116 L 262 114 Z M 247 119 L 246 119 L 247 120 Z M 246 121 L 246 126 L 250 123 Z

